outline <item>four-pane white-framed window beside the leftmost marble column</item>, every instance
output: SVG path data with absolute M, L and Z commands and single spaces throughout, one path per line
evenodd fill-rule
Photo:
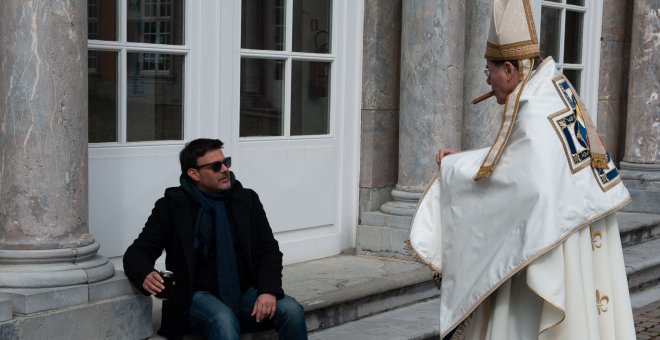
M 182 140 L 184 0 L 88 0 L 89 142 Z M 90 65 L 92 67 L 92 65 Z

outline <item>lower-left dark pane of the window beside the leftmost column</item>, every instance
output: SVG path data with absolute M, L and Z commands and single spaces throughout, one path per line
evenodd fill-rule
M 88 138 L 117 142 L 117 52 L 88 51 Z

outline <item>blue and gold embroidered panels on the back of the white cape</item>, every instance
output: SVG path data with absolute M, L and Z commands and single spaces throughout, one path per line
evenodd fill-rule
M 566 108 L 550 115 L 548 119 L 562 143 L 571 173 L 575 174 L 591 164 L 587 128 L 571 83 L 563 75 L 553 78 L 552 81 Z M 598 185 L 603 191 L 609 190 L 621 181 L 609 153 L 606 153 L 606 156 L 606 169 L 592 167 Z

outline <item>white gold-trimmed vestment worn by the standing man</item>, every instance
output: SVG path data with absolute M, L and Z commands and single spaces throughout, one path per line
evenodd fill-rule
M 453 154 L 422 196 L 410 241 L 442 274 L 442 336 L 635 338 L 613 214 L 630 196 L 591 166 L 574 96 L 546 60 L 492 175 L 473 179 L 488 149 Z

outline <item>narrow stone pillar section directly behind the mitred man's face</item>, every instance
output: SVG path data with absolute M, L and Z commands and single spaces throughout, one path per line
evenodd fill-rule
M 463 150 L 490 146 L 502 124 L 502 106 L 494 98 L 473 105 L 472 99 L 490 92 L 486 68 L 486 41 L 493 11 L 492 0 L 466 1 L 465 80 L 463 83 Z

